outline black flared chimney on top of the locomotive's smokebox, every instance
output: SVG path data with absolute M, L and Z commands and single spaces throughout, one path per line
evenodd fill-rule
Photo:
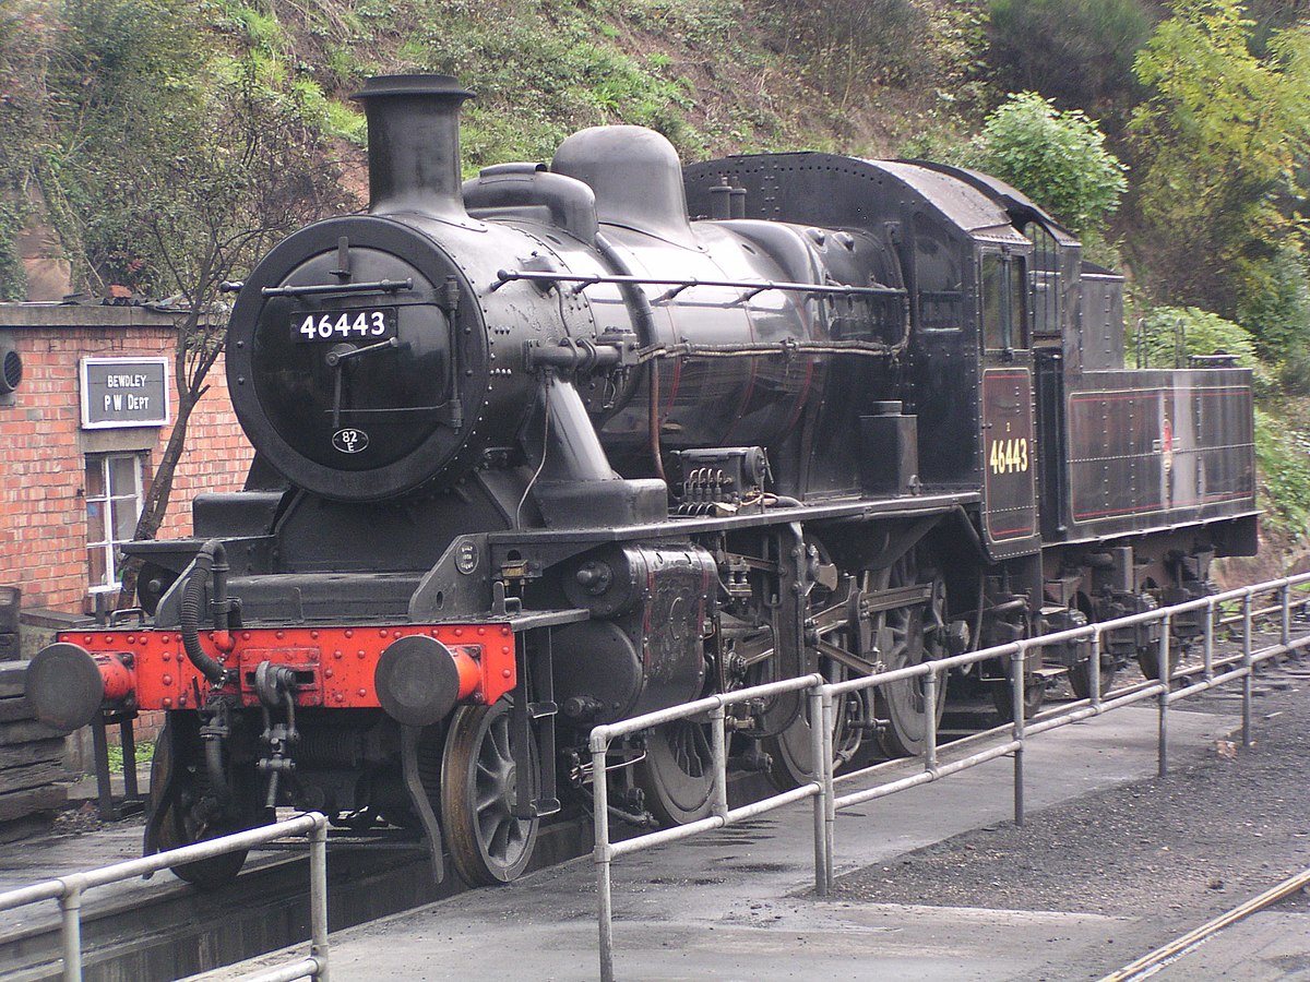
M 451 75 L 380 75 L 352 98 L 368 117 L 368 211 L 462 215 L 460 106 Z

